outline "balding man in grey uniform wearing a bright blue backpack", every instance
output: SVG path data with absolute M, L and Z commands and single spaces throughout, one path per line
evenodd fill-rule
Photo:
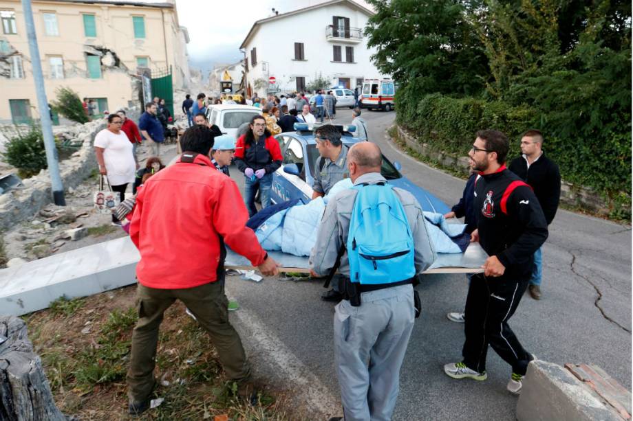
M 330 199 L 310 255 L 312 276 L 345 276 L 334 314 L 334 356 L 345 421 L 391 420 L 420 305 L 417 273 L 433 263 L 422 208 L 380 175 L 376 144 L 347 152 L 354 187 Z M 328 282 L 326 282 L 327 286 Z M 331 418 L 341 420 L 342 418 Z

